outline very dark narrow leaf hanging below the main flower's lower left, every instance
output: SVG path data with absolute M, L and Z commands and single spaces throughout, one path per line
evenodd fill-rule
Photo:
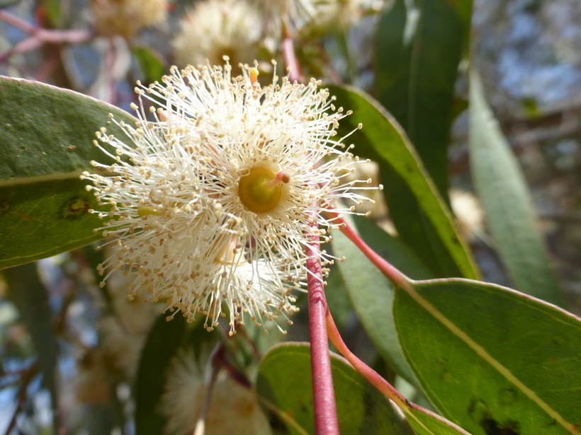
M 165 419 L 159 414 L 159 400 L 164 392 L 167 368 L 186 335 L 186 319 L 176 315 L 167 321 L 157 318 L 141 354 L 135 379 L 135 433 L 164 434 Z

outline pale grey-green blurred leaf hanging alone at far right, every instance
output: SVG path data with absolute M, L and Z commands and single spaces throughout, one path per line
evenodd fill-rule
M 519 291 L 564 306 L 526 182 L 486 103 L 476 72 L 470 74 L 469 143 L 474 186 L 512 283 Z

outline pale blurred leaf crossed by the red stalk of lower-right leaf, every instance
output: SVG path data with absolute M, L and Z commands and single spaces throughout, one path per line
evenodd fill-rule
M 401 267 L 402 272 L 412 277 L 432 277 L 400 240 L 391 237 L 368 219 L 358 219 L 356 229 L 361 238 L 370 243 L 371 248 L 377 249 L 376 252 L 388 261 L 394 261 L 394 266 Z M 337 231 L 333 239 L 334 255 L 346 258 L 344 262 L 339 262 L 339 272 L 349 292 L 351 304 L 369 338 L 398 375 L 419 385 L 397 341 L 391 309 L 392 284 L 343 233 Z

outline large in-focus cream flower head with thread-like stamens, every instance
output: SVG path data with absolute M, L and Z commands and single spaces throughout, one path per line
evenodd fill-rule
M 115 163 L 91 162 L 83 177 L 103 207 L 99 231 L 116 245 L 99 266 L 104 279 L 123 270 L 130 296 L 165 301 L 170 317 L 202 313 L 208 330 L 227 306 L 232 334 L 247 318 L 290 323 L 291 290 L 308 274 L 305 246 L 333 260 L 313 241 L 329 240 L 325 211 L 354 212 L 367 199 L 356 191 L 373 187 L 342 180 L 359 162 L 333 139 L 349 113 L 320 83 L 275 75 L 261 87 L 255 68 L 230 71 L 174 67 L 164 84 L 138 83 L 135 127 L 112 119 L 125 138 L 97 132 Z M 346 205 L 334 206 L 338 198 Z

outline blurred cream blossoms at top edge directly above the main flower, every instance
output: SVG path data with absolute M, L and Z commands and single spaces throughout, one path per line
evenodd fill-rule
M 347 28 L 363 10 L 378 7 L 369 0 L 204 0 L 180 23 L 171 45 L 181 66 L 209 59 L 232 64 L 275 56 L 281 37 L 310 40 Z M 268 54 L 266 54 L 268 53 Z

